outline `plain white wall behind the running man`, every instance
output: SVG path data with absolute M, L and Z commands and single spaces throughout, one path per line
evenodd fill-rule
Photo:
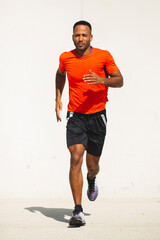
M 57 123 L 54 78 L 80 19 L 125 82 L 109 90 L 100 197 L 160 197 L 159 8 L 158 0 L 0 1 L 0 198 L 71 197 L 68 86 Z

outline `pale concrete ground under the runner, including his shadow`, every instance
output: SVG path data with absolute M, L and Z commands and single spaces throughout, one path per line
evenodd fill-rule
M 69 228 L 71 199 L 1 199 L 0 240 L 160 240 L 160 199 L 84 200 L 86 225 Z

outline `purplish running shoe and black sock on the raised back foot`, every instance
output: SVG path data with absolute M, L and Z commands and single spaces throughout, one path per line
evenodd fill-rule
M 96 177 L 94 177 L 93 179 L 89 179 L 87 175 L 87 181 L 88 181 L 87 196 L 90 201 L 95 201 L 98 196 L 98 187 L 96 184 Z

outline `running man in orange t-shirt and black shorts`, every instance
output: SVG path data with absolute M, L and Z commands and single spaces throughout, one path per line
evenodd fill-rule
M 57 121 L 61 121 L 61 97 L 67 73 L 67 147 L 71 156 L 69 180 L 75 203 L 69 224 L 82 226 L 85 225 L 82 208 L 83 155 L 86 150 L 87 196 L 94 201 L 98 195 L 96 175 L 106 135 L 108 87 L 122 87 L 123 77 L 108 51 L 90 45 L 93 38 L 90 23 L 76 22 L 72 38 L 75 49 L 60 55 L 56 73 L 56 117 Z

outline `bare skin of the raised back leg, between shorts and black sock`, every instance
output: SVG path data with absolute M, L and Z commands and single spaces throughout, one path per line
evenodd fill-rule
M 99 159 L 100 157 L 96 157 L 87 153 L 86 155 L 86 164 L 88 169 L 88 177 L 93 179 L 97 173 L 99 172 Z

